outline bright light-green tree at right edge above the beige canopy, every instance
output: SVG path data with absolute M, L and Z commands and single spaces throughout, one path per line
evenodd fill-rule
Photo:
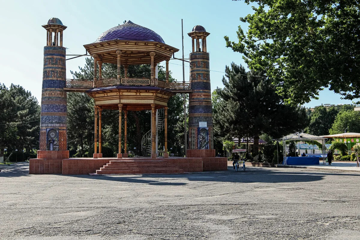
M 340 112 L 330 128 L 330 134 L 347 132 L 360 132 L 360 112 L 354 110 L 344 110 Z

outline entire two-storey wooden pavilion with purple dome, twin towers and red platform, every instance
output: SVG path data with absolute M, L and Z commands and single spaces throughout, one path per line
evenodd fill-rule
M 131 21 L 110 28 L 95 42 L 84 45 L 94 58 L 94 79 L 66 80 L 66 49 L 62 46 L 66 26 L 51 18 L 44 47 L 44 74 L 41 99 L 40 146 L 37 159 L 30 161 L 30 173 L 123 174 L 181 173 L 227 169 L 226 158 L 216 158 L 213 149 L 209 54 L 202 26 L 188 33 L 192 38 L 190 81 L 169 82 L 168 63 L 179 51 L 165 44 L 156 32 Z M 54 40 L 54 41 L 53 41 Z M 196 46 L 196 47 L 195 47 Z M 156 65 L 166 62 L 166 79 L 157 76 Z M 102 64 L 117 65 L 112 78 L 102 77 Z M 150 64 L 150 78 L 129 77 L 129 65 Z M 121 75 L 123 68 L 124 75 Z M 99 72 L 97 72 L 99 69 Z M 116 76 L 116 77 L 115 77 Z M 86 92 L 94 99 L 93 158 L 69 158 L 67 150 L 66 92 Z M 189 93 L 189 150 L 187 158 L 169 158 L 167 154 L 167 102 L 176 93 Z M 119 111 L 117 158 L 102 157 L 102 110 Z M 156 159 L 157 109 L 165 113 L 164 160 Z M 127 111 L 151 110 L 151 159 L 128 158 Z M 121 146 L 122 112 L 124 112 L 124 153 Z M 123 160 L 120 160 L 123 158 Z M 165 160 L 166 159 L 166 160 Z M 55 164 L 55 165 L 53 165 Z M 103 167 L 101 167 L 103 166 Z M 99 169 L 100 170 L 97 170 Z M 145 169 L 145 170 L 144 170 Z

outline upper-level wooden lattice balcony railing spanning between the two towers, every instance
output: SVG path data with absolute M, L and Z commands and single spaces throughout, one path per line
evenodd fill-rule
M 116 85 L 124 86 L 156 86 L 172 92 L 189 93 L 192 92 L 190 82 L 166 82 L 153 78 L 99 78 L 96 80 L 72 79 L 66 81 L 64 90 L 68 92 L 85 92 L 93 88 L 109 87 Z

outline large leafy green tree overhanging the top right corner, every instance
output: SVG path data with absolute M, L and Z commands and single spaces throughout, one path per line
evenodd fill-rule
M 358 0 L 244 0 L 254 13 L 241 17 L 238 41 L 248 67 L 265 71 L 287 103 L 317 99 L 329 88 L 360 98 L 360 4 Z

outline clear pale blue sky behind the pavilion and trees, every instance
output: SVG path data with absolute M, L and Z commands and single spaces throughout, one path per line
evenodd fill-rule
M 243 1 L 5 1 L 2 3 L 1 22 L 1 77 L 0 82 L 9 86 L 19 84 L 41 100 L 43 47 L 46 44 L 46 24 L 51 17 L 59 18 L 68 28 L 64 31 L 64 46 L 68 54 L 84 54 L 84 44 L 94 42 L 104 31 L 124 20 L 152 29 L 165 43 L 181 49 L 181 18 L 184 19 L 185 58 L 191 50 L 187 35 L 195 25 L 202 25 L 210 32 L 207 50 L 210 52 L 210 69 L 224 71 L 231 62 L 243 64 L 242 55 L 225 47 L 224 36 L 237 41 L 236 31 L 241 23 L 239 17 L 252 13 L 251 6 Z M 246 27 L 246 25 L 242 25 Z M 181 58 L 181 50 L 175 54 Z M 180 64 L 179 60 L 171 63 Z M 85 57 L 68 60 L 67 78 L 70 70 L 84 66 Z M 182 67 L 169 64 L 173 77 L 182 80 Z M 189 64 L 185 64 L 185 80 L 189 80 Z M 222 87 L 223 73 L 211 72 L 211 88 Z M 312 100 L 306 107 L 323 104 L 351 103 L 341 100 L 340 95 L 328 90 L 320 93 L 319 100 Z

